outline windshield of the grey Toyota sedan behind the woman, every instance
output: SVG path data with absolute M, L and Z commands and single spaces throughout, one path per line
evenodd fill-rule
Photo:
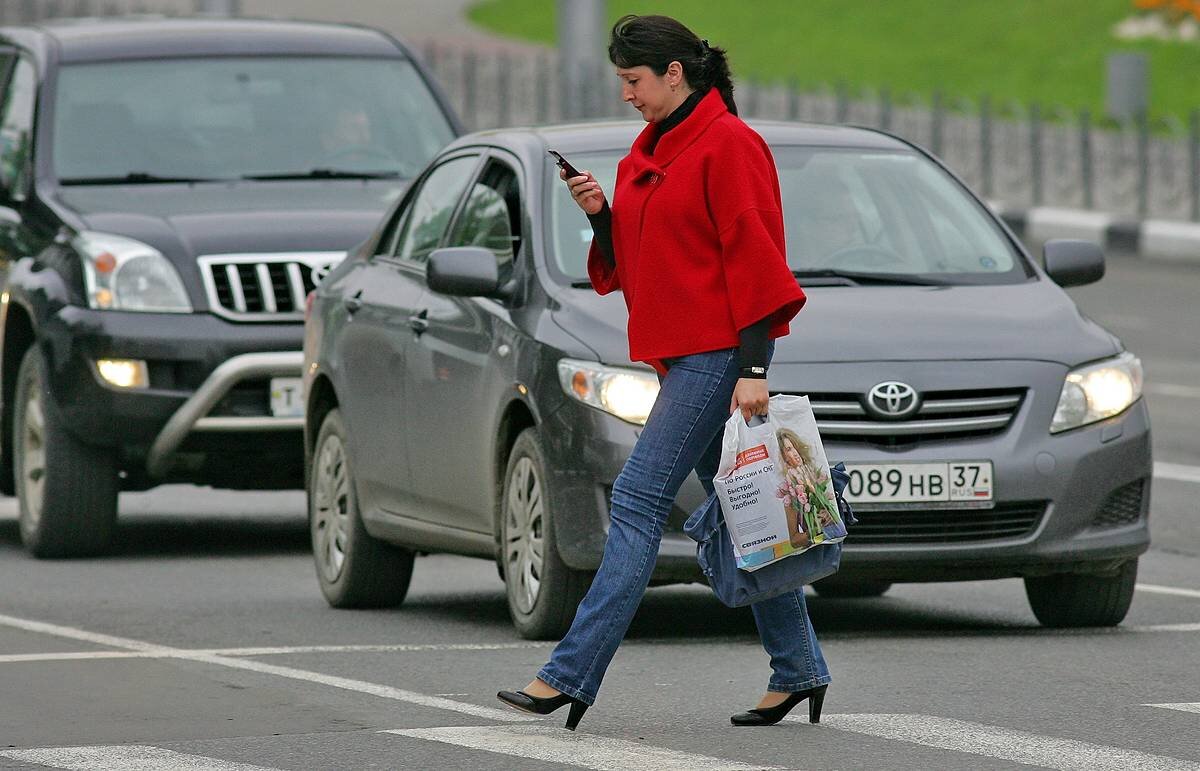
M 996 223 L 953 178 L 905 151 L 774 148 L 787 262 L 805 277 L 862 274 L 874 283 L 1012 283 L 1026 273 Z M 610 192 L 619 154 L 580 154 Z M 587 281 L 592 228 L 558 169 L 551 175 L 552 256 L 568 281 Z M 670 171 L 668 171 L 670 173 Z M 619 257 L 619 256 L 618 256 Z

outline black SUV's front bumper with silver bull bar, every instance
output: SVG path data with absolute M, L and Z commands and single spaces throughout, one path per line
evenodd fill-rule
M 268 383 L 300 376 L 302 335 L 296 323 L 68 306 L 38 341 L 58 413 L 79 441 L 119 455 L 127 488 L 298 488 L 304 422 L 271 414 Z M 106 384 L 100 358 L 146 361 L 149 388 Z

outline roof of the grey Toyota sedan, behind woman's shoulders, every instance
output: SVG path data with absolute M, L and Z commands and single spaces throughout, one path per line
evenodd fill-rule
M 782 120 L 748 121 L 772 145 L 826 145 L 877 150 L 908 150 L 912 145 L 874 128 L 802 124 Z M 554 126 L 530 126 L 478 131 L 460 137 L 451 147 L 498 145 L 530 155 L 545 155 L 547 149 L 560 151 L 568 160 L 572 153 L 628 151 L 642 121 L 595 121 Z

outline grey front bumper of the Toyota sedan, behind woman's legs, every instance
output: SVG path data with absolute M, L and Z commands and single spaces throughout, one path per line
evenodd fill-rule
M 929 442 L 902 450 L 827 442 L 832 462 L 991 460 L 997 509 L 1007 504 L 1038 512 L 1019 536 L 955 543 L 937 543 L 936 538 L 854 543 L 852 528 L 842 554 L 842 574 L 937 581 L 1106 572 L 1146 551 L 1152 459 L 1145 401 L 1109 420 L 1056 436 L 1034 430 L 1039 420 L 1032 400 L 1027 400 L 1009 429 L 997 435 Z M 607 492 L 640 430 L 574 402 L 548 416 L 544 424 L 554 501 L 564 512 L 556 519 L 557 546 L 576 569 L 595 569 L 600 563 L 608 525 Z M 1130 503 L 1133 489 L 1139 492 Z M 1120 516 L 1110 510 L 1115 496 L 1123 496 Z M 703 489 L 692 474 L 668 518 L 656 564 L 658 580 L 702 580 L 695 543 L 683 534 L 682 525 L 703 498 Z M 940 513 L 955 516 L 953 510 Z M 860 520 L 876 522 L 886 516 L 887 512 L 859 514 Z

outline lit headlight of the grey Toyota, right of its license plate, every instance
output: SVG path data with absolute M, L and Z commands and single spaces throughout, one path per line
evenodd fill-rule
M 1078 429 L 1124 412 L 1141 398 L 1141 360 L 1126 352 L 1067 372 L 1050 432 Z

